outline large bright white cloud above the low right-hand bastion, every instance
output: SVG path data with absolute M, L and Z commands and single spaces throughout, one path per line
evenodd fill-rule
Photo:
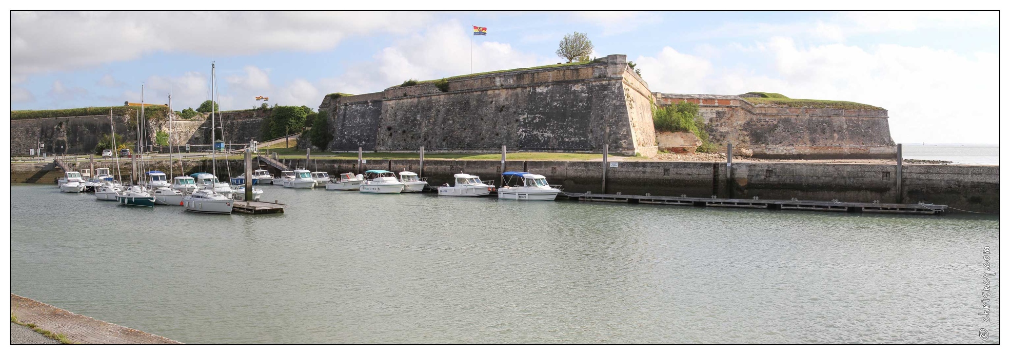
M 793 98 L 855 101 L 888 109 L 891 135 L 898 143 L 999 140 L 995 54 L 962 55 L 896 45 L 800 47 L 787 37 L 730 51 L 752 63 L 768 61 L 771 68 L 712 70 L 707 60 L 670 48 L 635 62 L 656 92 L 767 91 Z

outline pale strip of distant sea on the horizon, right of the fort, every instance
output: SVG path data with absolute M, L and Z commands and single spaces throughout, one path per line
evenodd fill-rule
M 904 159 L 1000 165 L 999 144 L 904 143 L 902 147 Z

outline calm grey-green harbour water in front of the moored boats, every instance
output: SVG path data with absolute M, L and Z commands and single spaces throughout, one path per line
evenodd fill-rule
M 285 214 L 205 215 L 11 188 L 12 292 L 185 343 L 999 341 L 998 297 L 976 315 L 996 218 L 277 186 Z

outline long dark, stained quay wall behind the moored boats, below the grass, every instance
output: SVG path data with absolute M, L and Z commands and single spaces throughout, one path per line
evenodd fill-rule
M 284 159 L 290 168 L 302 166 L 312 171 L 361 173 L 381 169 L 419 172 L 432 186 L 451 183 L 452 174 L 461 171 L 484 180 L 500 180 L 500 161 L 426 160 L 420 171 L 418 160 L 367 160 L 358 166 L 350 159 Z M 79 163 L 86 168 L 87 162 Z M 175 171 L 182 169 L 176 162 Z M 97 162 L 96 167 L 114 164 Z M 230 165 L 230 167 L 229 167 Z M 168 162 L 149 164 L 152 169 L 168 172 Z M 210 160 L 188 160 L 186 173 L 209 172 Z M 120 164 L 124 176 L 129 163 Z M 227 171 L 242 172 L 240 160 L 218 160 L 217 173 L 222 179 Z M 274 175 L 280 171 L 266 165 Z M 888 164 L 846 163 L 734 163 L 732 179 L 723 162 L 619 162 L 607 168 L 607 189 L 602 189 L 602 162 L 507 161 L 506 171 L 525 171 L 543 175 L 551 184 L 563 185 L 566 192 L 645 194 L 689 197 L 769 198 L 832 200 L 847 202 L 947 204 L 973 211 L 999 211 L 999 166 L 992 165 L 909 165 L 903 166 L 902 198 L 898 199 L 897 167 Z M 53 183 L 62 176 L 52 163 L 12 164 L 11 182 Z

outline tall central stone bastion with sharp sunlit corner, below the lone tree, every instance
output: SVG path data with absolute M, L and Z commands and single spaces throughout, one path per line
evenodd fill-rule
M 319 109 L 330 114 L 330 151 L 654 151 L 651 93 L 627 72 L 624 56 L 608 56 L 454 79 L 448 92 L 428 83 L 327 96 Z

